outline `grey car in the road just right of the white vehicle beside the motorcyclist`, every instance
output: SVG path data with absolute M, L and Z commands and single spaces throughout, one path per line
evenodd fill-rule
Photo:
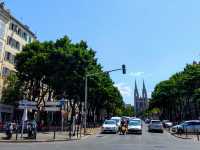
M 160 120 L 151 120 L 149 126 L 148 126 L 148 131 L 152 132 L 152 131 L 159 131 L 161 133 L 163 133 L 163 125 L 162 122 Z

